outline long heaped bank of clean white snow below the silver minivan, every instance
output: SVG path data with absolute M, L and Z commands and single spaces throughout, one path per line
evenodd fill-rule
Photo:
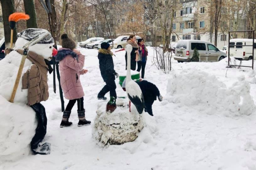
M 222 112 L 226 116 L 250 115 L 255 104 L 250 96 L 250 84 L 244 76 L 230 88 L 215 76 L 198 70 L 173 74 L 168 80 L 169 102 L 190 106 L 201 113 Z

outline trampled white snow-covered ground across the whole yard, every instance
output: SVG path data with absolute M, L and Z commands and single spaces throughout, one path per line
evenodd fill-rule
M 86 119 L 93 123 L 102 102 L 96 97 L 104 82 L 97 50 L 80 51 L 86 55 L 84 68 L 88 69 L 81 76 Z M 116 72 L 123 72 L 125 51 L 114 54 Z M 134 142 L 105 148 L 96 145 L 93 125 L 76 126 L 76 106 L 70 117 L 74 125 L 60 128 L 60 97 L 53 93 L 49 75 L 50 98 L 42 104 L 48 117 L 45 141 L 52 145 L 51 154 L 0 160 L 0 169 L 256 170 L 256 80 L 251 68 L 227 70 L 226 59 L 216 63 L 173 61 L 170 74 L 163 74 L 152 65 L 152 57 L 150 48 L 145 79 L 158 86 L 164 100 L 154 102 L 154 117 L 143 113 L 146 125 Z M 126 96 L 118 80 L 116 84 L 118 96 Z

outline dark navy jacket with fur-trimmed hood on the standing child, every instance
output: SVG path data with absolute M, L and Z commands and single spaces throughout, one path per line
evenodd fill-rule
M 106 49 L 100 49 L 98 59 L 100 64 L 100 73 L 104 82 L 108 80 L 115 80 L 114 62 L 112 58 L 113 53 Z

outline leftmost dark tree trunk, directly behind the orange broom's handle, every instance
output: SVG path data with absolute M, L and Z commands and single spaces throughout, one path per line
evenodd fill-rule
M 11 40 L 11 29 L 9 27 L 9 16 L 15 12 L 14 3 L 12 0 L 0 0 L 2 5 L 2 15 L 4 21 L 4 38 L 5 38 L 5 47 L 10 47 Z M 17 40 L 17 31 L 14 28 L 13 31 L 13 43 Z

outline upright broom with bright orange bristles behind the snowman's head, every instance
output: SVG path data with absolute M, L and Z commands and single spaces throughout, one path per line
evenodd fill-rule
M 30 17 L 29 15 L 23 13 L 23 12 L 15 12 L 9 16 L 9 27 L 11 29 L 11 42 L 10 42 L 10 48 L 12 48 L 12 42 L 13 42 L 13 30 L 16 26 L 16 22 L 20 20 L 28 20 Z

